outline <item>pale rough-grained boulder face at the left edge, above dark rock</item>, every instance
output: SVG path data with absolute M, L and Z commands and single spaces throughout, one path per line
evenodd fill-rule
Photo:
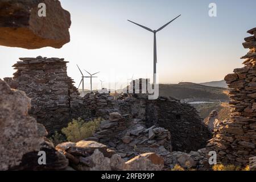
M 22 156 L 40 150 L 37 123 L 28 115 L 30 99 L 24 92 L 11 90 L 0 80 L 0 169 L 19 166 Z

